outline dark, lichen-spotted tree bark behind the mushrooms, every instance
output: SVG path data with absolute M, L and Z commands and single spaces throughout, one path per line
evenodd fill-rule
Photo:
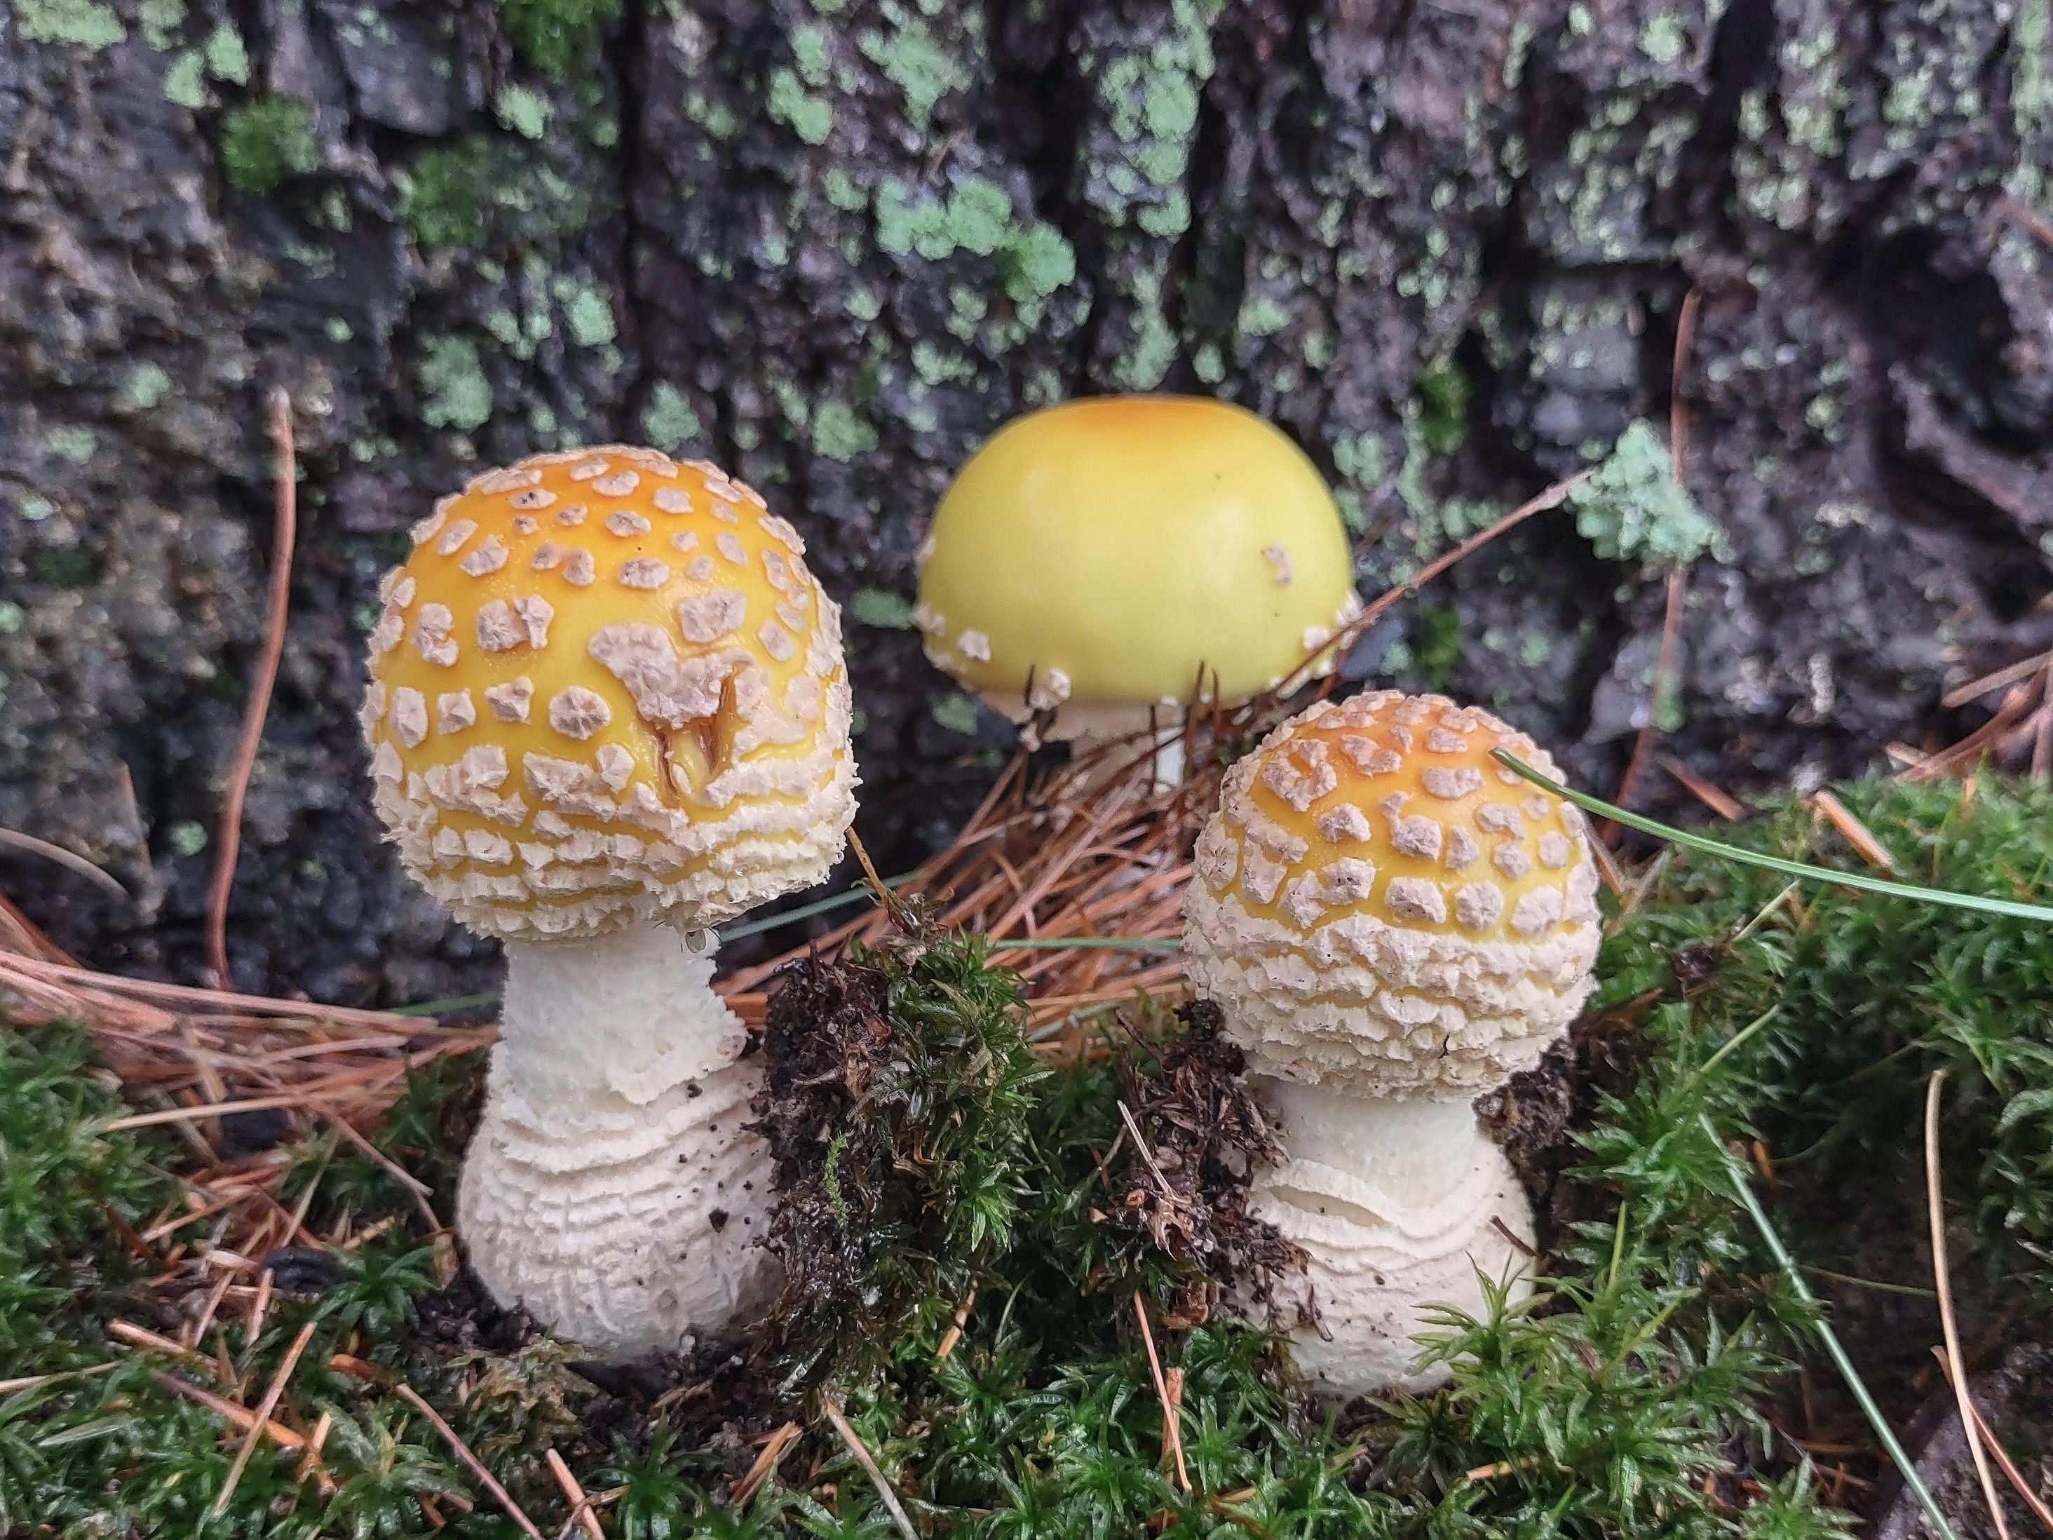
M 271 384 L 304 528 L 230 951 L 398 1000 L 491 963 L 378 844 L 353 723 L 374 583 L 470 468 L 628 437 L 758 485 L 868 591 L 862 827 L 905 862 L 1010 739 L 891 602 L 992 427 L 1242 400 L 1376 591 L 1665 427 L 1692 290 L 1725 552 L 1663 752 L 1733 793 L 1856 770 L 2053 643 L 2049 109 L 2049 0 L 10 0 L 0 823 L 140 906 L 0 885 L 96 963 L 195 973 Z M 1550 513 L 1351 669 L 1610 791 L 1663 589 Z

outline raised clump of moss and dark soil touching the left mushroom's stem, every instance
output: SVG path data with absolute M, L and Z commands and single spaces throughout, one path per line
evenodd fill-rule
M 881 1372 L 1004 1257 L 1026 1191 L 1024 988 L 981 936 L 914 936 L 784 975 L 764 1025 L 784 1296 L 801 1378 Z

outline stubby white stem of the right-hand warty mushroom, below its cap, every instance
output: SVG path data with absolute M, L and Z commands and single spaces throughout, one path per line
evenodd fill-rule
M 1254 1181 L 1252 1211 L 1308 1255 L 1320 1324 L 1293 1331 L 1297 1368 L 1326 1394 L 1423 1390 L 1433 1306 L 1486 1312 L 1484 1279 L 1529 1287 L 1532 1209 L 1468 1101 L 1353 1096 L 1258 1080 L 1285 1160 Z

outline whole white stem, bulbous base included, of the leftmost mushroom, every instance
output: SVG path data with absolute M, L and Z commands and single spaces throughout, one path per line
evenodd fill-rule
M 507 942 L 458 1230 L 501 1304 L 604 1353 L 677 1349 L 768 1302 L 762 1068 L 712 936 Z

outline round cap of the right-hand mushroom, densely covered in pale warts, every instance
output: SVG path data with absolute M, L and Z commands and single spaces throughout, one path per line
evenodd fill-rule
M 1581 813 L 1474 706 L 1320 702 L 1226 776 L 1185 897 L 1185 967 L 1265 1074 L 1367 1096 L 1474 1094 L 1575 1018 L 1597 955 Z

